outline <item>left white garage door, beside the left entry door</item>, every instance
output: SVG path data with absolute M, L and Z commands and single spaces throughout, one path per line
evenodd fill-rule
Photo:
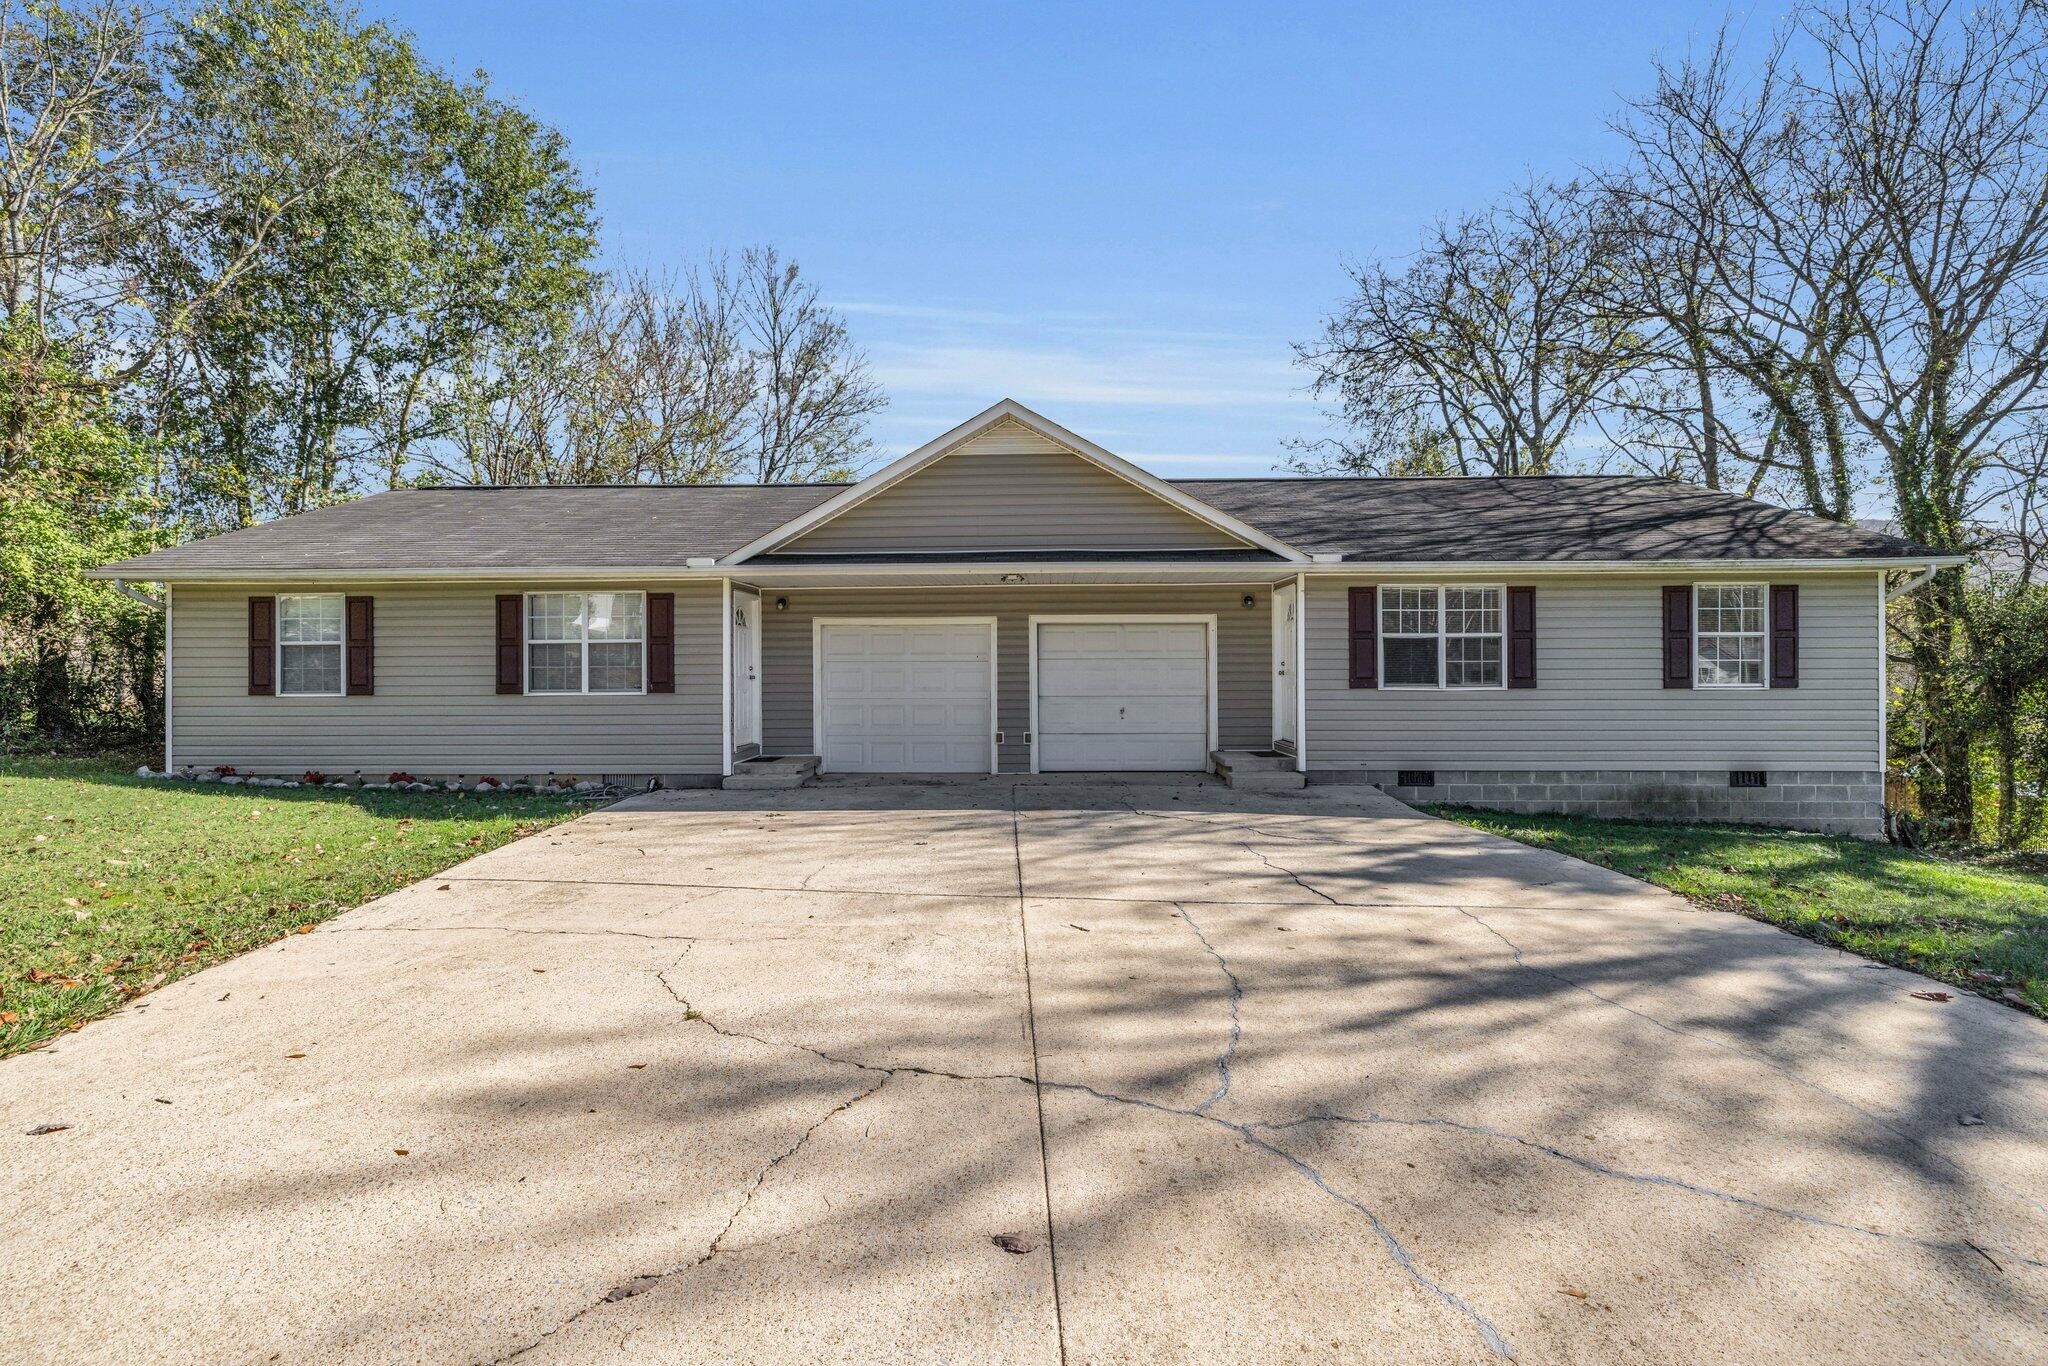
M 989 623 L 819 623 L 825 772 L 989 772 Z

